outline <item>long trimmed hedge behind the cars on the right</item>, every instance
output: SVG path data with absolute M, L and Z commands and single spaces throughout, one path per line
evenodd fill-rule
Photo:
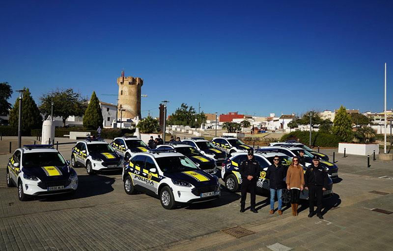
M 302 144 L 309 145 L 309 131 L 293 131 L 281 137 L 281 141 L 297 140 Z M 326 132 L 311 132 L 311 145 L 315 147 L 338 147 L 342 140 L 335 134 Z

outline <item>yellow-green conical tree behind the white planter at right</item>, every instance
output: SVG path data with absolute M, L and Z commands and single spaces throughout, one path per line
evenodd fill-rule
M 353 135 L 351 123 L 351 116 L 347 113 L 345 107 L 341 105 L 333 121 L 332 132 L 345 142 L 349 142 L 352 140 Z

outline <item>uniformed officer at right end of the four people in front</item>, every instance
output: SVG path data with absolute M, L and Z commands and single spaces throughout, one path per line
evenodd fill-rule
M 321 214 L 322 197 L 323 191 L 326 191 L 326 186 L 328 185 L 328 173 L 319 164 L 318 156 L 312 158 L 312 165 L 307 169 L 304 179 L 305 189 L 309 190 L 309 218 L 314 215 L 314 200 L 316 196 L 316 215 L 319 219 L 323 219 Z

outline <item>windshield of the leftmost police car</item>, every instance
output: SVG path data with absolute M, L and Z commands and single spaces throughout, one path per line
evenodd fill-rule
M 22 156 L 23 167 L 64 166 L 65 160 L 58 152 L 30 152 Z

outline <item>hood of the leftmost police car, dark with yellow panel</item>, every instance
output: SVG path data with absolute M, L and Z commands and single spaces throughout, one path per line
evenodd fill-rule
M 24 174 L 36 176 L 41 181 L 68 179 L 71 174 L 71 168 L 69 168 L 67 165 L 24 167 L 22 170 Z

